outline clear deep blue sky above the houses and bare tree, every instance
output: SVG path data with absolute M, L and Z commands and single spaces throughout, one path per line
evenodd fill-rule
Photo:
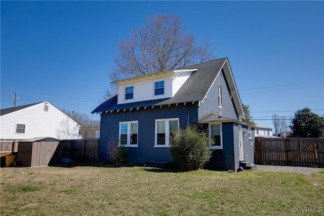
M 197 40 L 217 45 L 253 119 L 304 107 L 324 114 L 322 1 L 1 1 L 1 109 L 17 91 L 17 106 L 48 100 L 91 115 L 118 40 L 155 13 L 180 16 Z

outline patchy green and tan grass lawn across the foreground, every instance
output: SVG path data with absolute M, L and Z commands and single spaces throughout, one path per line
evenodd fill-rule
M 1 215 L 296 215 L 294 207 L 324 211 L 324 171 L 177 172 L 100 162 L 0 171 Z

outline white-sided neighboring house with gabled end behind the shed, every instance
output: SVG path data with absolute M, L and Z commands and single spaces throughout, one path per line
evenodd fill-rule
M 79 138 L 81 125 L 48 101 L 0 110 L 0 138 Z

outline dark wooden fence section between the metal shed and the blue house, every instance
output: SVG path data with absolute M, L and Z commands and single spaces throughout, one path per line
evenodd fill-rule
M 63 158 L 86 161 L 98 160 L 99 139 L 62 140 Z

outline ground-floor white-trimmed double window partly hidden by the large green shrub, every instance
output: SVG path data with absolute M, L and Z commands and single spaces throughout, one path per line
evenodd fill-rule
M 155 119 L 154 147 L 169 147 L 170 138 L 178 128 L 179 118 Z

